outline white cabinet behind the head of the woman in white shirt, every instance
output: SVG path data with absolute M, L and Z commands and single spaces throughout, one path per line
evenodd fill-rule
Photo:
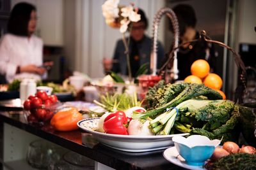
M 38 22 L 35 34 L 44 45 L 63 45 L 63 0 L 25 0 L 36 6 Z M 24 0 L 12 0 L 12 7 Z

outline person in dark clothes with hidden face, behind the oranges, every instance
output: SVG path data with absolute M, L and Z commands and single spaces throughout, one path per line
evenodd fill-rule
M 180 39 L 179 44 L 198 39 L 200 34 L 196 31 L 195 10 L 188 4 L 178 4 L 173 8 L 179 21 Z M 194 43 L 183 45 L 177 53 L 179 78 L 184 80 L 191 74 L 190 67 L 195 60 L 204 59 L 209 62 L 211 72 L 216 70 L 216 54 L 214 46 L 211 43 L 196 41 Z

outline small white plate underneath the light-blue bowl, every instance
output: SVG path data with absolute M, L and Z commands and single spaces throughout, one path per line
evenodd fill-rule
M 203 166 L 189 166 L 188 164 L 186 164 L 185 159 L 179 155 L 179 152 L 177 151 L 175 146 L 164 150 L 163 156 L 169 162 L 172 162 L 173 164 L 180 167 L 193 170 L 206 170 Z

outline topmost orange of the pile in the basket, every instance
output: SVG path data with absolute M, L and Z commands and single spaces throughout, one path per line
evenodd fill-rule
M 210 65 L 206 60 L 195 60 L 190 67 L 192 75 L 198 76 L 199 78 L 204 78 L 209 74 Z

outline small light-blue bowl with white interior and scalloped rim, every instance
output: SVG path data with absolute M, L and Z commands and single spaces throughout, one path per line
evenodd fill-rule
M 186 163 L 192 166 L 202 166 L 209 159 L 221 140 L 210 140 L 206 136 L 191 135 L 188 138 L 175 136 L 174 145 Z

